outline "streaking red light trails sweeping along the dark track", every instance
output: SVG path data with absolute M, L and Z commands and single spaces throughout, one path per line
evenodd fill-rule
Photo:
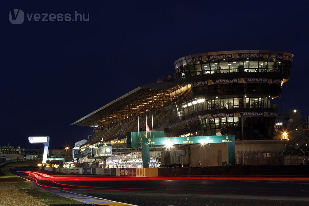
M 167 188 L 135 188 L 135 187 L 95 187 L 95 186 L 81 186 L 72 184 L 59 183 L 66 182 L 93 182 L 93 181 L 158 181 L 158 180 L 234 180 L 234 181 L 309 181 L 309 175 L 276 175 L 276 176 L 260 176 L 260 175 L 209 175 L 209 176 L 163 176 L 163 177 L 102 177 L 102 176 L 58 176 L 49 175 L 35 171 L 19 171 L 28 174 L 28 176 L 36 181 L 36 184 L 41 187 L 49 187 L 55 189 L 69 189 L 69 190 L 89 190 L 89 191 L 134 191 L 134 192 L 171 192 L 182 193 L 182 189 L 167 189 Z M 51 181 L 59 187 L 47 186 L 40 184 L 38 181 Z M 208 189 L 186 189 L 186 191 L 197 193 L 217 193 L 218 191 Z

